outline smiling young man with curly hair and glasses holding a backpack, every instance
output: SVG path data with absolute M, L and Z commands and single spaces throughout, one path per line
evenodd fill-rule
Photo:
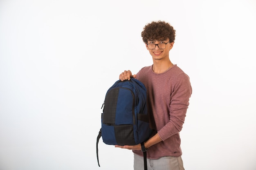
M 143 42 L 153 59 L 153 65 L 141 68 L 136 74 L 124 71 L 119 79 L 140 80 L 147 88 L 150 128 L 156 131 L 144 143 L 147 151 L 148 170 L 184 170 L 180 131 L 189 106 L 192 88 L 188 75 L 169 59 L 173 48 L 175 30 L 164 22 L 151 22 L 141 32 Z M 144 169 L 141 144 L 116 146 L 134 152 L 134 170 Z

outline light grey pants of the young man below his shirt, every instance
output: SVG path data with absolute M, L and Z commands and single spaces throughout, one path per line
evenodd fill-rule
M 184 170 L 181 157 L 147 159 L 148 170 Z M 134 154 L 134 170 L 144 170 L 144 158 Z

